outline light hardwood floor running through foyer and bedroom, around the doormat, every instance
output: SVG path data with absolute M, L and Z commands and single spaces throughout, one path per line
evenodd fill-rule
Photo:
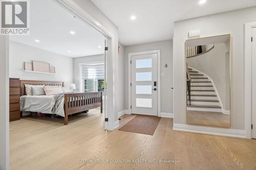
M 11 169 L 256 169 L 256 140 L 173 131 L 172 118 L 161 118 L 153 136 L 104 131 L 99 112 L 70 117 L 68 126 L 48 117 L 11 122 Z M 120 126 L 133 117 L 123 115 Z M 95 163 L 122 159 L 152 162 Z

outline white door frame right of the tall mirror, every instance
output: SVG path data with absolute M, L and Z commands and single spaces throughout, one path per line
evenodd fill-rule
M 251 29 L 256 28 L 256 22 L 245 23 L 244 25 L 244 100 L 245 100 L 245 137 L 251 139 L 251 83 L 252 83 L 252 66 L 251 66 Z

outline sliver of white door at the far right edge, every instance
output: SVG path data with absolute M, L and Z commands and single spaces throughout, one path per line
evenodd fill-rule
M 251 43 L 251 137 L 256 139 L 256 28 L 252 28 L 252 43 Z

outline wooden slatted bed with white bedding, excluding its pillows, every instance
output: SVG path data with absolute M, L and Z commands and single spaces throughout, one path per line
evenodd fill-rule
M 64 117 L 64 125 L 68 125 L 68 116 L 100 107 L 102 113 L 102 92 L 63 93 L 58 107 L 55 105 L 54 95 L 26 95 L 25 84 L 64 87 L 64 82 L 20 80 L 20 111 L 31 111 L 57 114 Z

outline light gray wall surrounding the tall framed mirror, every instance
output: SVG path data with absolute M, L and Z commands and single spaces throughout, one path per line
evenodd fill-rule
M 184 42 L 188 31 L 201 30 L 201 37 L 231 34 L 231 128 L 245 129 L 244 23 L 256 21 L 256 7 L 208 15 L 174 23 L 174 123 L 186 124 L 186 72 Z

